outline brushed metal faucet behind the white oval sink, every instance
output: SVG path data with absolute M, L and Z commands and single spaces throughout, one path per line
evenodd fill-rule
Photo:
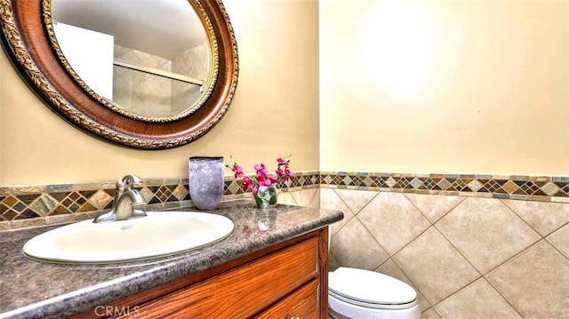
M 110 211 L 100 214 L 93 223 L 133 219 L 147 216 L 141 206 L 146 204 L 144 197 L 132 185 L 139 184 L 142 179 L 134 174 L 126 174 L 122 179 L 116 180 L 115 203 Z

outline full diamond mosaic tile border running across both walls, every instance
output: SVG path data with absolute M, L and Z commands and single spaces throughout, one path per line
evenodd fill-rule
M 0 230 L 93 218 L 111 207 L 115 182 L 0 187 Z M 245 196 L 241 185 L 226 176 L 222 200 Z M 278 185 L 281 192 L 318 187 L 569 203 L 569 177 L 299 171 Z M 150 209 L 191 205 L 188 178 L 146 179 L 137 188 Z

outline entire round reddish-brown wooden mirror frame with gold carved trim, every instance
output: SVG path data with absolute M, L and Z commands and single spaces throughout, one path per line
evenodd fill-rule
M 61 65 L 57 55 L 50 56 L 55 53 L 49 36 L 44 34 L 47 30 L 42 25 L 41 3 L 0 0 L 0 38 L 4 51 L 20 71 L 20 76 L 48 106 L 71 124 L 96 137 L 130 148 L 177 148 L 201 138 L 220 122 L 233 100 L 238 76 L 236 37 L 225 7 L 220 0 L 190 1 L 199 3 L 211 21 L 216 36 L 212 45 L 219 48 L 220 57 L 217 77 L 221 78 L 210 85 L 212 94 L 204 99 L 199 109 L 168 123 L 132 119 L 108 109 L 85 94 L 84 89 L 69 76 L 72 71 Z M 67 77 L 62 73 L 66 73 Z

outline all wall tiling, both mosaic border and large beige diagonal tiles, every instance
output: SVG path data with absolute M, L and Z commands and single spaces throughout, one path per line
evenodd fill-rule
M 228 177 L 224 199 L 246 196 Z M 140 186 L 156 208 L 191 204 L 188 179 Z M 279 203 L 343 211 L 331 269 L 359 267 L 410 283 L 423 318 L 565 318 L 569 178 L 297 172 Z M 114 181 L 0 187 L 0 230 L 92 218 Z

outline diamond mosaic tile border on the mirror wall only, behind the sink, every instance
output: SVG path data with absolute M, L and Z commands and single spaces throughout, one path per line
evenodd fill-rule
M 318 187 L 317 171 L 296 172 L 293 179 L 279 182 L 281 192 Z M 0 187 L 0 230 L 91 219 L 112 207 L 115 182 Z M 146 179 L 135 187 L 149 209 L 191 206 L 188 178 Z M 225 177 L 222 200 L 251 195 L 243 180 Z

